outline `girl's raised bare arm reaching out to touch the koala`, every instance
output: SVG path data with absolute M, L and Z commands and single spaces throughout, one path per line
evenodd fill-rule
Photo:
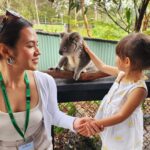
M 95 66 L 102 72 L 117 76 L 119 73 L 119 70 L 117 67 L 106 65 L 99 57 L 97 57 L 88 47 L 85 43 L 83 43 L 85 51 L 89 54 L 91 60 L 95 64 Z

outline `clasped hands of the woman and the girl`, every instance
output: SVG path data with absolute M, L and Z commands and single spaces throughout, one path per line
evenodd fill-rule
M 76 118 L 74 121 L 74 129 L 81 135 L 90 137 L 104 130 L 98 121 L 89 117 Z

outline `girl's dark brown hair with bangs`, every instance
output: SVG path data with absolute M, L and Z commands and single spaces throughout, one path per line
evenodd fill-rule
M 129 57 L 132 70 L 150 68 L 150 36 L 132 33 L 124 37 L 116 46 L 116 54 L 124 59 Z

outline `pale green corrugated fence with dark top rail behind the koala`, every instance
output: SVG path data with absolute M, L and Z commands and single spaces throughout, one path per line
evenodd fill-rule
M 50 67 L 55 67 L 60 59 L 59 34 L 49 34 L 43 32 L 38 33 L 39 48 L 41 57 L 38 69 L 47 70 Z M 114 65 L 115 46 L 117 41 L 107 41 L 102 39 L 84 38 L 89 47 L 99 56 L 105 63 Z

